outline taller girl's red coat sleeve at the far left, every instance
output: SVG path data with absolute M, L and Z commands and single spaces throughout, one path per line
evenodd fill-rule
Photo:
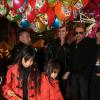
M 11 69 L 8 70 L 6 75 L 6 84 L 2 87 L 3 96 L 9 98 L 7 95 L 8 90 L 11 90 Z

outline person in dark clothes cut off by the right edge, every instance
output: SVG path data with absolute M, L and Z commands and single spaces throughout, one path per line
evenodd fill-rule
M 90 100 L 100 100 L 100 28 L 96 32 L 97 60 L 90 82 Z

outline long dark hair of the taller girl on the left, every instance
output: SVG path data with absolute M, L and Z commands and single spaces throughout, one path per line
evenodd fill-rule
M 19 68 L 18 68 L 18 72 L 19 72 L 19 78 L 23 77 L 23 70 L 22 70 L 22 58 L 25 58 L 25 61 L 29 60 L 30 58 L 33 59 L 33 64 L 30 66 L 31 70 L 30 70 L 30 79 L 32 81 L 35 82 L 35 90 L 36 92 L 39 91 L 39 87 L 40 87 L 40 75 L 39 75 L 39 71 L 37 68 L 37 64 L 35 62 L 35 55 L 36 52 L 34 50 L 34 48 L 32 46 L 26 46 L 18 55 L 15 63 L 18 64 Z

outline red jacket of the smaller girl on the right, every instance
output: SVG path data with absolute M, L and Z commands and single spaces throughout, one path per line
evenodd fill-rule
M 40 100 L 64 100 L 57 80 L 49 82 L 46 74 L 41 75 Z

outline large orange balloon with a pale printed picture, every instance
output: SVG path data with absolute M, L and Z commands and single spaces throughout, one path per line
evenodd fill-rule
M 71 15 L 71 8 L 62 5 L 59 1 L 55 6 L 55 14 L 60 20 L 67 20 Z

